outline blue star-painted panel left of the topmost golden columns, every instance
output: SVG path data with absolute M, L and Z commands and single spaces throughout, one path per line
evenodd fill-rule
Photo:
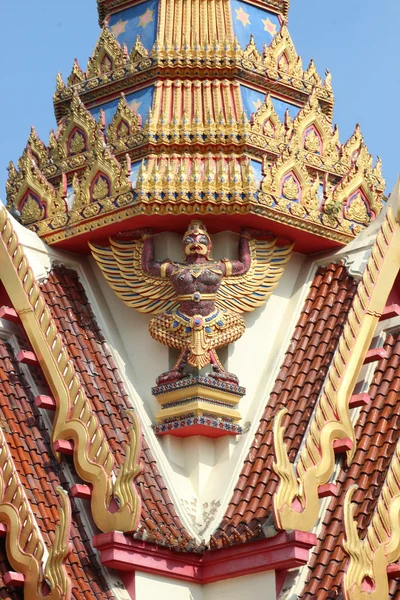
M 140 35 L 143 46 L 150 50 L 156 41 L 158 0 L 147 0 L 111 15 L 109 27 L 121 46 L 131 51 L 136 36 Z

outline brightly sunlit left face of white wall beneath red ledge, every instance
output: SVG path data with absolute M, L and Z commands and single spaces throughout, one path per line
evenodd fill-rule
M 135 600 L 205 600 L 203 586 L 136 571 Z

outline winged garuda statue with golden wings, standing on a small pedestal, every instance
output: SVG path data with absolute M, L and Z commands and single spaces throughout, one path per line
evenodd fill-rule
M 209 364 L 210 377 L 237 384 L 216 350 L 243 335 L 246 326 L 240 313 L 266 302 L 292 246 L 277 246 L 270 234 L 246 229 L 238 260 L 214 261 L 211 238 L 201 221 L 192 221 L 183 236 L 185 262 L 156 261 L 150 230 L 120 234 L 109 244 L 91 243 L 90 248 L 110 286 L 128 306 L 155 314 L 151 336 L 180 350 L 176 364 L 158 377 L 157 385 L 185 377 L 186 365 L 202 369 Z

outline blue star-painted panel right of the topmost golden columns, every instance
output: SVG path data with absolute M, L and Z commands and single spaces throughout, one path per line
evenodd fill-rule
M 259 52 L 264 44 L 270 44 L 275 34 L 280 30 L 281 24 L 278 15 L 242 0 L 231 0 L 233 29 L 242 48 L 245 48 L 254 35 Z

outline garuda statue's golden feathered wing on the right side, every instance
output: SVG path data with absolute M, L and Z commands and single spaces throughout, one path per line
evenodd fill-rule
M 276 240 L 249 241 L 251 264 L 244 275 L 224 277 L 216 303 L 234 312 L 250 312 L 262 306 L 277 287 L 289 261 L 293 244 L 276 246 Z

